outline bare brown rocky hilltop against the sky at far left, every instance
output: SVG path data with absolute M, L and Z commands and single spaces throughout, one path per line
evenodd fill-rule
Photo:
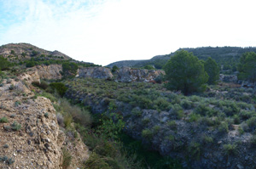
M 24 61 L 35 56 L 44 56 L 50 59 L 71 59 L 59 51 L 48 51 L 29 43 L 9 43 L 0 47 L 0 55 L 9 60 Z

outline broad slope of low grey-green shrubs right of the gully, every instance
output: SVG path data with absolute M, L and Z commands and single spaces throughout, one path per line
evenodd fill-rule
M 131 123 L 128 127 L 133 131 L 141 131 L 141 138 L 147 140 L 146 143 L 155 143 L 157 136 L 170 143 L 174 152 L 183 152 L 183 155 L 189 153 L 189 158 L 194 156 L 200 159 L 209 146 L 223 149 L 220 151 L 222 155 L 235 157 L 236 154 L 232 152 L 241 149 L 241 139 L 247 134 L 254 135 L 256 128 L 255 91 L 250 88 L 219 83 L 208 86 L 205 93 L 184 96 L 166 91 L 164 84 L 120 83 L 90 78 L 64 83 L 69 88 L 67 97 L 73 99 L 74 103 L 88 105 L 92 110 L 94 107 L 99 109 L 98 105 L 106 110 L 104 107 L 115 103 L 117 113 L 127 112 L 124 114 L 125 121 L 132 119 L 136 122 L 135 128 L 132 129 Z M 159 123 L 154 118 L 144 116 L 145 112 L 152 110 L 156 110 L 156 116 L 166 112 L 170 120 Z M 182 136 L 184 133 L 179 132 L 181 124 L 188 125 L 193 132 L 187 133 L 187 137 Z M 236 144 L 224 141 L 230 132 L 239 133 Z M 217 144 L 220 140 L 224 142 L 223 146 Z M 250 142 L 254 143 L 253 138 Z

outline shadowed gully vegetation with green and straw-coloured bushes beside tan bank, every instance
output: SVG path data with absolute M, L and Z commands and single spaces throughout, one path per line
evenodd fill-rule
M 44 96 L 55 103 L 59 125 L 72 133 L 74 139 L 79 132 L 84 144 L 90 149 L 90 158 L 84 162 L 84 168 L 181 167 L 171 158 L 163 158 L 156 152 L 147 152 L 141 142 L 128 137 L 123 132 L 125 122 L 120 115 L 115 114 L 115 105 L 112 102 L 107 105 L 108 115 L 105 112 L 91 114 L 90 107 L 78 103 L 70 104 L 67 99 L 58 97 L 60 94 L 58 88 L 62 84 L 64 83 L 45 81 L 33 83 L 35 87 L 42 89 L 36 96 Z M 67 149 L 63 149 L 63 153 L 65 154 L 63 167 L 67 168 L 71 157 Z

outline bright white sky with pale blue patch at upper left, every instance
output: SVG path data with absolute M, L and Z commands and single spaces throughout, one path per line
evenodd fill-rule
M 108 65 L 178 48 L 255 47 L 254 0 L 0 0 L 0 45 Z

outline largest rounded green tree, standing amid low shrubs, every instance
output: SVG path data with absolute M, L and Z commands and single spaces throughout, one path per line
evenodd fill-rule
M 166 63 L 166 87 L 180 90 L 185 95 L 200 92 L 206 88 L 208 80 L 204 65 L 196 56 L 185 50 L 178 51 Z

